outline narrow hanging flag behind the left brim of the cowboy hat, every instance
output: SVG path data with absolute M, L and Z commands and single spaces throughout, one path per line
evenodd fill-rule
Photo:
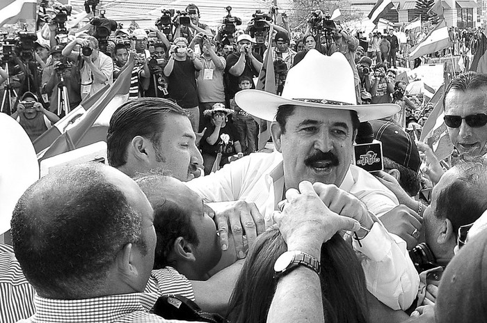
M 269 44 L 272 43 L 272 33 L 273 26 L 269 30 Z M 276 94 L 276 72 L 274 72 L 274 61 L 272 59 L 271 49 L 269 48 L 264 56 L 264 63 L 259 72 L 259 79 L 257 85 L 255 86 L 257 90 L 264 90 L 266 92 Z M 269 129 L 269 123 L 266 120 L 260 120 L 255 118 L 257 123 L 259 123 L 259 143 L 257 145 L 258 150 L 261 150 L 266 145 L 266 142 L 271 138 L 271 132 Z

